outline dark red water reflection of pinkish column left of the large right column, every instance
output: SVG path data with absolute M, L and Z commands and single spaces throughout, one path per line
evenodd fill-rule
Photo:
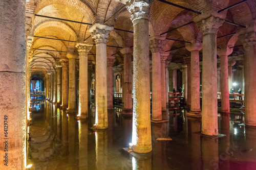
M 201 135 L 194 132 L 201 131 L 201 119 L 192 120 L 188 119 L 188 134 L 191 135 L 191 156 L 192 156 L 192 169 L 202 169 L 201 161 Z

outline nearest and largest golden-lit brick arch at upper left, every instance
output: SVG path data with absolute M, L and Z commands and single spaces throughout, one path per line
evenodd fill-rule
M 86 18 L 87 21 L 90 23 L 95 22 L 95 13 L 93 7 L 90 5 L 90 3 L 87 3 L 86 1 L 79 1 L 79 0 L 58 0 L 58 1 L 52 1 L 52 0 L 40 0 L 36 3 L 35 8 L 35 14 L 37 14 L 41 9 L 54 4 L 61 4 L 73 7 L 74 9 L 80 11 Z

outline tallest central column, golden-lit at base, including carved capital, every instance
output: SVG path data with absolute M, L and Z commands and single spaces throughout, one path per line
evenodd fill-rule
M 127 3 L 134 26 L 133 151 L 152 151 L 150 122 L 150 52 L 148 19 L 153 1 Z M 164 98 L 165 99 L 165 98 Z M 165 103 L 165 102 L 164 102 Z M 166 105 L 165 105 L 166 106 Z

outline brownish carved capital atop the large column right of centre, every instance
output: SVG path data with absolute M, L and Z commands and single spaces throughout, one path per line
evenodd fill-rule
M 203 35 L 217 34 L 218 29 L 222 26 L 224 19 L 210 16 L 197 23 L 198 27 L 202 30 Z

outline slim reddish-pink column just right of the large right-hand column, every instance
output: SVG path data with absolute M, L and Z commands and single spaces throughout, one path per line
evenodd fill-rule
M 232 53 L 233 48 L 223 46 L 218 49 L 217 54 L 221 58 L 221 113 L 229 114 L 229 76 L 228 76 L 228 55 Z M 232 69 L 232 66 L 231 66 Z

